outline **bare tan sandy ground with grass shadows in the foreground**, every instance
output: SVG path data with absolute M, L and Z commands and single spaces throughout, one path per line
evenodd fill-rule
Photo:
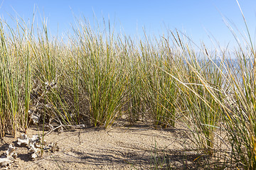
M 30 128 L 27 135 L 41 132 Z M 27 147 L 18 147 L 17 139 L 8 135 L 1 139 L 1 153 L 11 143 L 17 147 L 16 162 L 8 169 L 155 169 L 156 165 L 164 169 L 166 164 L 174 169 L 187 169 L 198 157 L 188 153 L 185 157 L 180 152 L 188 140 L 183 128 L 154 130 L 147 125 L 81 128 L 51 132 L 45 140 L 56 142 L 59 151 L 44 152 L 43 157 L 32 160 Z

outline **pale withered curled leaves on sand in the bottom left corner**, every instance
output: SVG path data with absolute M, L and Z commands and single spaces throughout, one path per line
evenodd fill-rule
M 0 157 L 0 166 L 8 166 L 14 159 L 16 159 L 17 154 L 14 152 L 16 147 L 9 145 L 9 148 L 6 150 L 6 156 Z

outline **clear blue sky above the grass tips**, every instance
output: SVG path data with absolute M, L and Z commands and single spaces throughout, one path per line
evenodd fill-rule
M 233 35 L 223 22 L 223 16 L 235 23 L 243 33 L 245 25 L 235 0 L 0 0 L 1 18 L 11 25 L 9 15 L 21 16 L 24 21 L 32 18 L 34 7 L 37 10 L 38 23 L 48 18 L 48 28 L 52 35 L 67 33 L 75 23 L 74 16 L 85 17 L 91 24 L 95 21 L 107 21 L 115 25 L 115 30 L 126 35 L 143 36 L 143 28 L 148 35 L 166 34 L 177 28 L 186 33 L 194 42 L 211 45 L 208 35 L 220 42 L 220 45 L 235 45 Z M 240 0 L 240 6 L 252 39 L 255 40 L 256 1 Z M 223 16 L 222 16 L 223 15 Z M 255 41 L 254 41 L 255 42 Z

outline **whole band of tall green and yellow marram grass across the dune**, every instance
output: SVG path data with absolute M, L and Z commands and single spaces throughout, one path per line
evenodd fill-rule
M 223 149 L 223 132 L 231 151 L 223 167 L 255 169 L 251 43 L 234 53 L 204 45 L 198 51 L 178 32 L 135 42 L 80 23 L 62 42 L 49 38 L 45 25 L 36 34 L 33 27 L 1 21 L 1 137 L 33 123 L 107 128 L 122 115 L 127 123 L 142 120 L 154 128 L 183 122 L 196 152 L 213 156 Z

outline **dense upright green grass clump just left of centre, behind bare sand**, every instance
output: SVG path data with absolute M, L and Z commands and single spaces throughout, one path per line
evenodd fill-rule
M 107 128 L 122 114 L 128 74 L 112 36 L 95 35 L 90 27 L 78 30 L 78 62 L 82 84 L 90 102 L 92 125 Z

